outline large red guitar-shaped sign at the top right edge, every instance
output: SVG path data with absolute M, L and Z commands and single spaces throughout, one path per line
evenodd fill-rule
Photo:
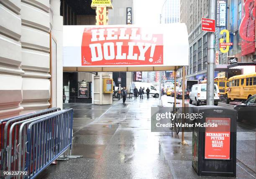
M 255 0 L 243 0 L 243 7 L 239 28 L 242 56 L 255 52 Z

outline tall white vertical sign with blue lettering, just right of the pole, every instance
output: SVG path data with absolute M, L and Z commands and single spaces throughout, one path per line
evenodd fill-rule
M 227 0 L 216 1 L 216 27 L 226 27 Z

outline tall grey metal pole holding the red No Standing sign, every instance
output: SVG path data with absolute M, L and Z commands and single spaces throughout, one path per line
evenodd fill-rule
M 210 0 L 209 18 L 215 19 L 215 0 Z M 214 66 L 215 66 L 215 33 L 210 33 L 209 57 L 207 58 L 207 105 L 214 105 Z

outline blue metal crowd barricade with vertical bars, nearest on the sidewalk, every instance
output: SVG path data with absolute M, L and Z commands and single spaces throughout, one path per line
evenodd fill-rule
M 29 124 L 25 167 L 27 178 L 36 177 L 67 149 L 71 149 L 72 128 L 73 109 L 62 110 Z

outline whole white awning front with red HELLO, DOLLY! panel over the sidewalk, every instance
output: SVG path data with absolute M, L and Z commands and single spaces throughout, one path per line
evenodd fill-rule
M 184 24 L 64 26 L 64 67 L 188 65 Z

